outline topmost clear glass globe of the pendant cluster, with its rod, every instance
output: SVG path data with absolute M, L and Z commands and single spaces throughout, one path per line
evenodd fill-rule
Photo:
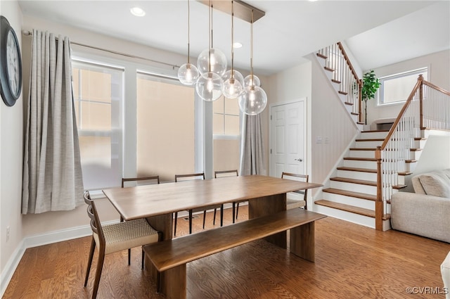
M 215 72 L 219 76 L 223 76 L 226 72 L 226 56 L 224 52 L 215 49 L 212 45 L 212 4 L 209 2 L 210 12 L 210 46 L 203 50 L 197 58 L 197 68 L 200 74 L 205 72 Z

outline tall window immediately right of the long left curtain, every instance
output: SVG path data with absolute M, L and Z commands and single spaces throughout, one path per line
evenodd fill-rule
M 72 61 L 73 93 L 85 189 L 120 184 L 123 68 Z

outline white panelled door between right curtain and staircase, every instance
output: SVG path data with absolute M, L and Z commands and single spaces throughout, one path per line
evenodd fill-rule
M 281 177 L 281 172 L 305 174 L 305 103 L 301 99 L 271 107 L 271 177 Z

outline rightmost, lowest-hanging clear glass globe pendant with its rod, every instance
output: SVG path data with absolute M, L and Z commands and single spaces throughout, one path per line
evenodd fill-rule
M 250 75 L 248 85 L 245 86 L 243 93 L 239 96 L 239 108 L 247 115 L 258 115 L 262 113 L 267 105 L 267 95 L 264 89 L 257 86 L 256 76 L 253 75 L 253 10 L 251 22 L 251 50 L 250 50 Z M 259 78 L 258 78 L 259 81 Z

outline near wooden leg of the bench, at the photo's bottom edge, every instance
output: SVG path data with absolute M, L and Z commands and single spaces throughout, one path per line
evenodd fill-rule
M 162 272 L 160 284 L 167 299 L 186 299 L 186 264 Z

